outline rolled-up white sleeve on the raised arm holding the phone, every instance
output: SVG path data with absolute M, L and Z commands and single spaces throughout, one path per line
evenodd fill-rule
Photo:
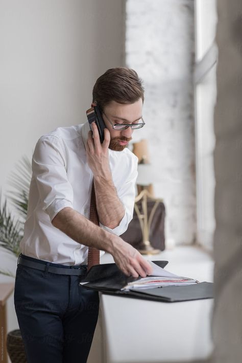
M 134 200 L 135 200 L 135 183 L 138 176 L 137 164 L 138 158 L 133 154 L 131 159 L 131 165 L 127 172 L 127 179 L 125 183 L 121 184 L 119 188 L 116 187 L 117 195 L 120 201 L 123 203 L 125 214 L 120 223 L 114 228 L 110 229 L 107 226 L 100 223 L 100 226 L 117 236 L 122 235 L 128 228 L 129 222 L 133 218 L 134 213 Z

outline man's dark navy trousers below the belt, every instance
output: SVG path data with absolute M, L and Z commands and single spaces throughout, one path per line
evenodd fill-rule
M 80 279 L 18 264 L 14 305 L 28 363 L 86 362 L 99 294 L 79 285 Z

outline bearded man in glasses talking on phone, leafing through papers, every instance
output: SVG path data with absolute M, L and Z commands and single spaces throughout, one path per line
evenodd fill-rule
M 128 276 L 150 264 L 118 235 L 133 215 L 137 157 L 127 149 L 142 127 L 143 87 L 135 71 L 105 72 L 93 87 L 106 125 L 92 123 L 41 137 L 32 159 L 28 216 L 16 271 L 15 310 L 29 363 L 86 362 L 98 319 L 98 292 L 79 285 L 88 247 L 109 252 Z M 138 125 L 137 125 L 138 124 Z M 94 183 L 100 225 L 88 220 Z

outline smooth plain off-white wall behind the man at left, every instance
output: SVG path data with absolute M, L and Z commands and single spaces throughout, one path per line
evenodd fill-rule
M 58 126 L 85 122 L 98 76 L 124 65 L 124 1 L 0 1 L 0 188 Z M 1 251 L 1 268 L 16 259 Z M 0 275 L 0 281 L 12 281 Z M 8 330 L 17 327 L 13 298 Z

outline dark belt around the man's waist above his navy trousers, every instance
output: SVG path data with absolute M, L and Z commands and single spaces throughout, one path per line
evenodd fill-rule
M 50 262 L 46 262 L 46 261 L 42 261 L 42 262 L 45 262 L 45 263 L 30 261 L 25 258 L 22 258 L 21 256 L 19 256 L 19 258 L 18 258 L 18 264 L 20 264 L 20 265 L 28 266 L 31 268 L 36 268 L 41 271 L 48 271 L 48 272 L 51 272 L 54 274 L 79 276 L 79 275 L 85 275 L 87 272 L 87 265 L 83 265 L 78 268 L 74 268 L 74 266 L 73 267 L 70 266 L 70 268 L 64 268 L 64 267 L 52 266 L 52 265 L 50 265 Z

